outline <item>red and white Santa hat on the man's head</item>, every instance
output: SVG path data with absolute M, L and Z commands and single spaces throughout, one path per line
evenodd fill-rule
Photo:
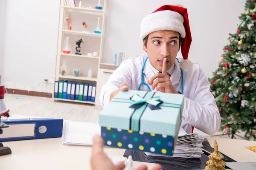
M 177 31 L 180 33 L 184 39 L 181 45 L 183 60 L 180 62 L 180 68 L 189 68 L 192 65 L 192 62 L 188 59 L 192 37 L 187 9 L 180 6 L 164 5 L 148 14 L 141 21 L 140 38 L 143 40 L 148 34 L 161 30 Z

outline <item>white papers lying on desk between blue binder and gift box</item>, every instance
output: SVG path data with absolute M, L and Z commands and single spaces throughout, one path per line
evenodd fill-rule
M 95 134 L 101 134 L 98 123 L 65 122 L 61 141 L 64 145 L 91 146 Z

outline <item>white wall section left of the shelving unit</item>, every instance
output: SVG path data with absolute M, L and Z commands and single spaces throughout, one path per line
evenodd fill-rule
M 7 88 L 52 92 L 58 0 L 8 0 L 3 84 Z M 38 88 L 37 88 L 38 87 Z

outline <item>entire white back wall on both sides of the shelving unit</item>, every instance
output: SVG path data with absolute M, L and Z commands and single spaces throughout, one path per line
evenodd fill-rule
M 54 77 L 58 3 L 7 1 L 3 50 L 6 87 L 52 93 L 52 85 L 43 79 Z M 202 65 L 210 77 L 221 59 L 228 33 L 236 32 L 244 3 L 245 0 L 108 0 L 102 62 L 113 63 L 114 54 L 119 52 L 125 52 L 125 59 L 144 53 L 140 40 L 143 17 L 164 4 L 181 4 L 188 8 L 192 32 L 189 59 Z

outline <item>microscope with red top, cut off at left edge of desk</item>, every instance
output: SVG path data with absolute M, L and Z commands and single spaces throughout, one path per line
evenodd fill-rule
M 4 85 L 0 85 L 0 136 L 3 134 L 3 129 L 6 127 L 9 127 L 5 123 L 1 122 L 1 117 L 6 116 L 9 117 L 9 109 L 6 108 L 5 102 L 4 102 L 4 94 L 5 94 L 5 88 Z M 12 150 L 9 147 L 3 147 L 3 144 L 0 141 L 0 156 L 1 155 L 7 155 L 11 154 Z

